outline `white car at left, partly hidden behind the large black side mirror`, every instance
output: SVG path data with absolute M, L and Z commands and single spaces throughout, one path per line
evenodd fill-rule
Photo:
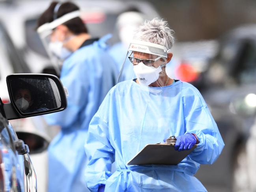
M 30 73 L 29 67 L 22 60 L 19 51 L 15 49 L 4 26 L 0 23 L 0 98 L 3 103 L 9 103 L 6 86 L 6 76 L 12 73 Z M 30 147 L 30 158 L 37 172 L 38 191 L 47 189 L 47 147 L 58 132 L 58 128 L 49 129 L 43 117 L 29 117 L 10 120 L 17 136 L 21 140 L 30 138 L 37 147 Z

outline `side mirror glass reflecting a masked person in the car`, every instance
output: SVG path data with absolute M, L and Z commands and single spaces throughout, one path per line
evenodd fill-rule
M 61 106 L 56 83 L 48 77 L 11 77 L 9 80 L 14 105 L 21 113 L 41 112 Z

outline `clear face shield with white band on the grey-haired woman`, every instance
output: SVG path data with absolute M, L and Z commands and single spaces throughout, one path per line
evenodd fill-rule
M 135 80 L 142 86 L 164 87 L 171 80 L 165 73 L 166 47 L 146 41 L 132 41 L 118 82 Z

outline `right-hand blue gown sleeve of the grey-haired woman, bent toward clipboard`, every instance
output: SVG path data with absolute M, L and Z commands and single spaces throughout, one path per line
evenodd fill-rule
M 200 164 L 213 164 L 219 157 L 224 142 L 206 102 L 197 89 L 183 97 L 185 133 L 194 133 L 199 144 L 189 157 Z

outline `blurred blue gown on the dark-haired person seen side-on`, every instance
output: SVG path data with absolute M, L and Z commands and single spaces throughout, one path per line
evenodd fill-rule
M 60 79 L 68 89 L 68 106 L 46 115 L 49 125 L 61 126 L 49 146 L 49 192 L 88 190 L 84 179 L 88 125 L 118 75 L 106 49 L 105 39 L 99 39 L 76 50 L 63 64 Z

